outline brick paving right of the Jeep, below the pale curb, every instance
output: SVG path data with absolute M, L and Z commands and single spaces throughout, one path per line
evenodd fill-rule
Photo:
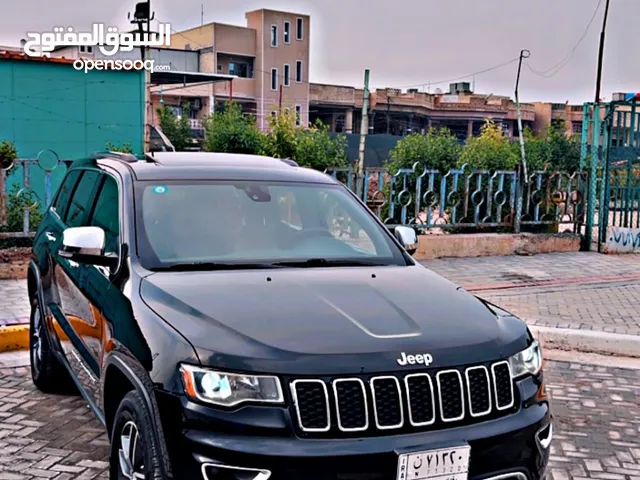
M 640 480 L 640 370 L 548 362 L 551 480 Z

